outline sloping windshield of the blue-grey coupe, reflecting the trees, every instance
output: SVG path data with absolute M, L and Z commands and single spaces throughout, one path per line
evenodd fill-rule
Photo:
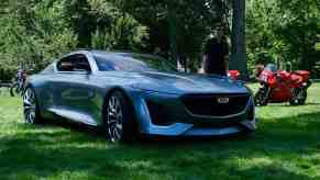
M 166 59 L 141 54 L 95 54 L 100 71 L 177 71 Z

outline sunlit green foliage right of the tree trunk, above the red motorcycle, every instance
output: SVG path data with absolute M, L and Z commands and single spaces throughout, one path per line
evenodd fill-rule
M 319 4 L 319 0 L 247 0 L 250 64 L 269 60 L 319 75 L 313 68 L 320 57 L 316 49 L 320 34 Z M 262 53 L 268 56 L 260 56 Z

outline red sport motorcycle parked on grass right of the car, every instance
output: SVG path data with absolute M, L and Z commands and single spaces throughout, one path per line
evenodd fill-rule
M 267 65 L 257 75 L 261 87 L 254 98 L 255 104 L 267 105 L 268 102 L 305 104 L 307 89 L 311 86 L 310 75 L 307 70 L 288 72 L 277 70 L 273 64 Z

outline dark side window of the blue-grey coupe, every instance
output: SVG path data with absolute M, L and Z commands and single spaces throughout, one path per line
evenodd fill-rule
M 91 71 L 90 64 L 85 55 L 77 54 L 60 59 L 58 71 Z

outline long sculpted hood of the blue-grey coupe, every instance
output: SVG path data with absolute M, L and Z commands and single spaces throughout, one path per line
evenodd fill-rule
M 165 93 L 249 93 L 240 81 L 222 76 L 137 72 L 135 88 Z

